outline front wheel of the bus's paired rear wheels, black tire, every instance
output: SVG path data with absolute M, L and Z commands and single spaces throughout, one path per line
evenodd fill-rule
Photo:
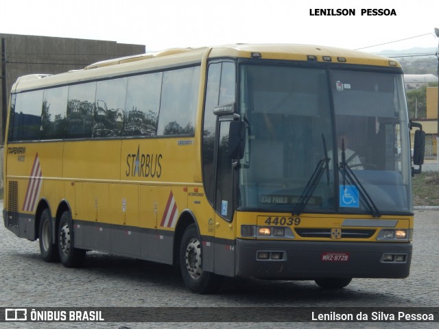
M 78 267 L 84 263 L 86 250 L 75 248 L 73 245 L 74 235 L 71 215 L 69 211 L 64 211 L 58 226 L 58 251 L 61 263 L 65 267 Z

